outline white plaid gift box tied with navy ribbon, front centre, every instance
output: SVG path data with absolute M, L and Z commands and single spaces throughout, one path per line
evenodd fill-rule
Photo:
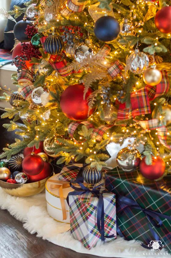
M 79 240 L 85 248 L 91 249 L 101 240 L 110 242 L 116 238 L 115 194 L 102 193 L 103 198 L 100 199 L 93 190 L 89 190 L 83 194 L 74 191 L 68 197 L 70 227 L 74 239 Z M 99 215 L 100 207 L 102 213 Z M 102 221 L 98 221 L 99 218 Z M 110 238 L 105 238 L 104 235 Z

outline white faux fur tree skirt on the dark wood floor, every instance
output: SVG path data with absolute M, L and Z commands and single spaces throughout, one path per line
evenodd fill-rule
M 140 246 L 139 241 L 126 241 L 119 236 L 110 243 L 100 244 L 91 250 L 85 249 L 82 244 L 73 239 L 70 232 L 64 232 L 69 229 L 69 225 L 56 222 L 49 216 L 46 210 L 45 193 L 40 193 L 32 197 L 14 197 L 5 193 L 0 188 L 0 207 L 6 209 L 19 221 L 23 222 L 23 227 L 31 234 L 37 233 L 38 237 L 72 249 L 78 253 L 92 254 L 103 257 L 141 257 L 149 258 L 155 255 L 151 250 Z M 150 252 L 150 253 L 149 253 Z M 153 254 L 152 254 L 153 253 Z M 156 252 L 157 257 L 163 257 L 164 250 Z M 165 251 L 166 253 L 166 251 Z M 171 257 L 171 255 L 167 255 Z

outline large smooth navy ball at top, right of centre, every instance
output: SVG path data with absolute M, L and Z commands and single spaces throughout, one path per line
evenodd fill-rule
M 104 42 L 112 41 L 118 37 L 120 26 L 112 16 L 102 16 L 97 19 L 94 25 L 94 33 L 98 40 Z

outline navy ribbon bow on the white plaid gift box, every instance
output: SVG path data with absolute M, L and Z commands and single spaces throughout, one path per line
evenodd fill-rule
M 80 187 L 76 187 L 73 183 L 78 183 Z M 97 228 L 99 233 L 101 234 L 101 240 L 105 241 L 105 238 L 115 237 L 115 234 L 105 235 L 105 226 L 104 226 L 104 201 L 103 194 L 97 189 L 99 186 L 94 187 L 93 189 L 89 189 L 85 187 L 81 182 L 79 182 L 78 178 L 75 181 L 70 182 L 70 186 L 75 190 L 70 192 L 67 196 L 67 203 L 69 205 L 69 195 L 81 195 L 84 193 L 92 193 L 95 197 L 99 199 L 98 207 L 97 207 Z

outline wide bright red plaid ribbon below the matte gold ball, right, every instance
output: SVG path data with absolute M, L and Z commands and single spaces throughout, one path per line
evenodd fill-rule
M 126 108 L 126 103 L 119 103 L 118 120 L 127 120 L 137 115 L 149 114 L 150 100 L 166 93 L 169 89 L 167 71 L 162 70 L 162 80 L 152 87 L 146 85 L 144 88 L 131 93 L 131 107 Z

